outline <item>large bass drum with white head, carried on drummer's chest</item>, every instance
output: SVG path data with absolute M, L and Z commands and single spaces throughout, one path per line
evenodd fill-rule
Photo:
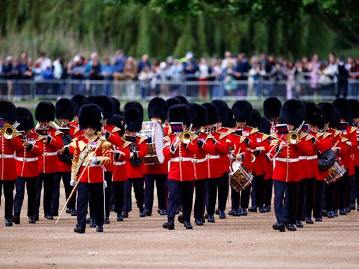
M 144 156 L 144 163 L 151 165 L 163 163 L 165 156 L 163 156 L 164 143 L 161 123 L 144 121 L 140 135 L 147 137 L 147 155 Z

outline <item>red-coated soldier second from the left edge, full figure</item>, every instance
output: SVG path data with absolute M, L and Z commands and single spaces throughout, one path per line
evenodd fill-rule
M 18 107 L 16 118 L 20 123 L 18 130 L 23 131 L 23 144 L 21 149 L 16 150 L 16 174 L 18 179 L 15 182 L 16 194 L 14 198 L 13 223 L 20 224 L 20 212 L 25 195 L 25 184 L 27 189 L 27 216 L 29 223 L 36 223 L 35 202 L 36 202 L 36 180 L 39 177 L 37 169 L 39 156 L 43 153 L 44 137 L 36 134 L 34 128 L 34 118 L 29 109 Z

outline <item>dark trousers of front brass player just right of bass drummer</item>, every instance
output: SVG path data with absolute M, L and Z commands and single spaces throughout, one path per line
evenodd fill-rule
M 194 195 L 194 181 L 168 179 L 168 220 L 174 220 L 178 205 L 179 192 L 182 193 L 183 219 L 190 221 Z

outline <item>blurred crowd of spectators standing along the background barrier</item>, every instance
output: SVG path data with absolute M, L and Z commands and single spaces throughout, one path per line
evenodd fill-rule
M 41 53 L 32 60 L 27 53 L 21 57 L 0 58 L 1 95 L 21 96 L 29 92 L 33 80 L 38 83 L 36 93 L 48 91 L 57 95 L 65 93 L 65 84 L 71 81 L 71 93 L 136 95 L 142 98 L 154 95 L 175 96 L 185 85 L 189 97 L 222 96 L 283 96 L 287 99 L 302 95 L 358 95 L 359 58 L 337 57 L 329 53 L 327 59 L 318 55 L 290 61 L 273 55 L 254 55 L 226 51 L 223 59 L 196 60 L 188 52 L 182 58 L 168 56 L 164 61 L 142 55 L 140 60 L 118 49 L 111 57 L 91 53 L 86 59 L 75 55 L 65 62 L 59 56 L 51 60 Z M 59 82 L 56 82 L 59 81 Z M 121 81 L 113 83 L 114 81 Z M 185 82 L 185 83 L 184 83 Z M 351 81 L 353 82 L 353 81 Z M 68 85 L 68 84 L 66 84 Z M 90 90 L 90 91 L 89 91 Z

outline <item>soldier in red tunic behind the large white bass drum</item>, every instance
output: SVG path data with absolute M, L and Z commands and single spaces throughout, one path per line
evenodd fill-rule
M 167 119 L 168 106 L 164 99 L 154 97 L 148 106 L 149 119 L 153 122 L 164 123 Z M 147 216 L 152 214 L 152 206 L 154 203 L 154 183 L 156 181 L 157 198 L 158 198 L 158 214 L 167 214 L 167 172 L 168 162 L 165 160 L 162 164 L 146 164 L 146 187 L 144 189 L 144 211 Z

